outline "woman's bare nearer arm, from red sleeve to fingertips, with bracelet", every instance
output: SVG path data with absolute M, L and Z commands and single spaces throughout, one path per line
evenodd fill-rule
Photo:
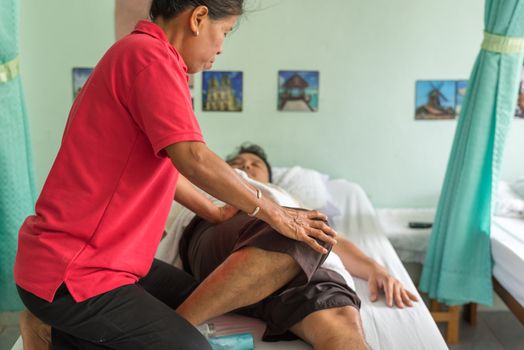
M 336 232 L 324 222 L 315 220 L 327 220 L 324 214 L 282 208 L 264 196 L 257 198 L 256 190 L 204 143 L 179 142 L 166 147 L 166 151 L 175 167 L 191 183 L 246 213 L 259 207 L 257 217 L 284 236 L 303 241 L 323 254 L 328 251 L 316 239 L 336 243 L 333 238 Z

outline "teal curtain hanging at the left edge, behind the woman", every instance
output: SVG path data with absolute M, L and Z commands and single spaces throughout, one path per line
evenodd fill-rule
M 13 280 L 13 262 L 18 230 L 35 202 L 29 128 L 18 74 L 18 1 L 0 1 L 0 311 L 23 308 Z

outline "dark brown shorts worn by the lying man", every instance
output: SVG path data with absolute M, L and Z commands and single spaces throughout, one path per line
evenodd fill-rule
M 319 243 L 331 249 L 326 243 Z M 327 255 L 284 237 L 264 221 L 244 213 L 220 224 L 195 217 L 183 233 L 180 256 L 184 269 L 201 282 L 229 255 L 244 247 L 287 254 L 301 268 L 301 273 L 283 288 L 254 305 L 236 310 L 267 323 L 265 341 L 296 339 L 288 329 L 315 311 L 342 306 L 360 309 L 360 299 L 342 276 L 320 267 Z

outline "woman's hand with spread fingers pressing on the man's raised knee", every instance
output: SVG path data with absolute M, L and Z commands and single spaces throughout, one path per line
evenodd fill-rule
M 264 221 L 282 235 L 304 242 L 321 254 L 327 254 L 328 250 L 322 247 L 316 239 L 333 245 L 337 243 L 334 238 L 337 233 L 326 224 L 327 216 L 325 214 L 316 210 L 284 207 L 281 209 L 276 217 L 270 220 L 264 219 Z

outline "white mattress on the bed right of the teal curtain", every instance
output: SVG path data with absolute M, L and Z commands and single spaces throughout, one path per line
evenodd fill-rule
M 524 307 L 524 219 L 495 217 L 491 227 L 493 276 Z

